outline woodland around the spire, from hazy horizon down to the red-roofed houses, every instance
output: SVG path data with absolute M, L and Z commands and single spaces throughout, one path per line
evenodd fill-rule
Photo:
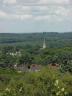
M 42 49 L 46 39 L 46 49 Z M 0 34 L 0 66 L 59 64 L 72 72 L 72 33 Z

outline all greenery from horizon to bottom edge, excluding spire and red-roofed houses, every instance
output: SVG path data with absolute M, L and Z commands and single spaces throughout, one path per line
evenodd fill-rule
M 42 49 L 44 38 L 47 48 Z M 18 73 L 15 64 L 42 69 Z M 1 33 L 0 84 L 0 96 L 72 96 L 72 32 Z

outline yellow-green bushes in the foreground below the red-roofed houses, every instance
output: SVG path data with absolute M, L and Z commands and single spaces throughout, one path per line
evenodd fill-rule
M 9 83 L 2 82 L 0 96 L 71 96 L 70 74 L 63 75 L 58 70 L 49 67 L 40 72 L 17 73 L 6 70 L 3 75 L 9 78 Z M 14 74 L 13 74 L 14 73 Z M 1 73 L 2 74 L 2 73 Z M 11 77 L 11 75 L 13 76 Z M 69 78 L 66 78 L 68 76 Z M 64 78 L 63 78 L 64 77 Z M 7 79 L 5 79 L 7 81 Z M 71 94 L 71 95 L 69 95 Z

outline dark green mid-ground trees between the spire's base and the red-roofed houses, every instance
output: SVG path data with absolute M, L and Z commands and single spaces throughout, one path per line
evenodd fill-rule
M 13 68 L 15 64 L 60 65 L 62 72 L 72 73 L 72 47 L 46 48 L 39 46 L 2 46 L 0 47 L 0 67 Z

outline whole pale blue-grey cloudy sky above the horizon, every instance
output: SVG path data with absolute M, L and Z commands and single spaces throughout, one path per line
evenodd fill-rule
M 0 0 L 0 33 L 72 32 L 72 0 Z

